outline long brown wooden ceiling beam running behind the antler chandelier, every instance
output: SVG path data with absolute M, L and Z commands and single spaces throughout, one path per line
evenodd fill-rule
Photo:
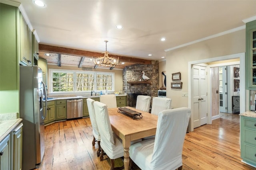
M 102 57 L 102 53 L 98 52 L 92 52 L 92 51 L 84 51 L 84 50 L 78 50 L 78 49 L 69 49 L 64 47 L 56 47 L 51 45 L 43 45 L 39 44 L 39 51 L 45 51 L 47 53 L 59 53 L 59 54 L 65 54 L 65 55 L 75 55 L 80 57 Z M 121 56 L 121 55 L 111 55 L 109 54 L 109 57 L 118 58 L 119 62 L 130 62 L 130 63 L 136 63 L 136 64 L 151 64 L 151 60 L 145 60 L 145 59 L 138 59 L 134 57 L 127 57 L 127 56 Z

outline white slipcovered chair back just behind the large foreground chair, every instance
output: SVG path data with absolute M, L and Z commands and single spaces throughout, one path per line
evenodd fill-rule
M 171 104 L 172 104 L 172 99 L 154 97 L 152 98 L 151 113 L 154 115 L 158 115 L 160 111 L 170 109 Z

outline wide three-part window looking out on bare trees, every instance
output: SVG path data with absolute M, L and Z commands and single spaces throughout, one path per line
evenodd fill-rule
M 50 69 L 51 92 L 114 91 L 114 73 L 81 72 Z M 96 82 L 96 83 L 95 83 Z

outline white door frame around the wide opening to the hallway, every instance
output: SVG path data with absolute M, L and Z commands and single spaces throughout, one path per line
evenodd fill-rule
M 192 106 L 192 89 L 191 89 L 191 80 L 192 80 L 192 66 L 194 64 L 201 64 L 201 63 L 210 63 L 214 61 L 223 61 L 223 60 L 229 60 L 229 59 L 240 59 L 240 113 L 245 112 L 245 53 L 238 53 L 238 54 L 233 54 L 233 55 L 226 55 L 226 56 L 221 56 L 221 57 L 214 57 L 210 59 L 203 59 L 203 60 L 198 60 L 198 61 L 190 61 L 188 62 L 188 107 L 191 108 Z M 209 70 L 210 71 L 210 70 Z M 208 71 L 208 74 L 210 72 Z M 207 118 L 207 124 L 212 124 L 212 80 L 211 78 L 208 78 L 208 87 L 207 87 L 207 92 L 208 92 L 208 118 Z M 192 111 L 191 113 L 191 121 L 189 123 L 189 131 L 194 131 L 194 113 Z

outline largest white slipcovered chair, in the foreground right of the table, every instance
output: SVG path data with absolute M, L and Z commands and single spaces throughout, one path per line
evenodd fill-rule
M 156 138 L 130 146 L 130 158 L 142 170 L 182 170 L 182 148 L 191 110 L 168 109 L 158 114 Z

